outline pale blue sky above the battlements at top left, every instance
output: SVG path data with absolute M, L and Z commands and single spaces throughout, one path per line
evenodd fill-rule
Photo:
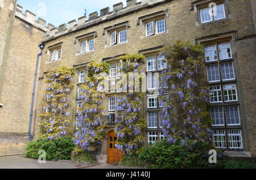
M 36 19 L 40 16 L 47 24 L 52 23 L 55 27 L 73 19 L 77 20 L 84 15 L 85 9 L 88 17 L 94 11 L 100 14 L 100 10 L 105 7 L 110 7 L 112 11 L 113 5 L 119 2 L 126 6 L 126 0 L 18 0 L 18 4 L 23 7 L 23 13 L 30 10 L 36 14 Z

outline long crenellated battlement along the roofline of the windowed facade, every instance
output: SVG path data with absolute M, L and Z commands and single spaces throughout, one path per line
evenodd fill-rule
M 46 41 L 56 38 L 58 36 L 63 36 L 66 33 L 77 31 L 81 28 L 90 27 L 94 24 L 104 22 L 105 20 L 110 20 L 112 18 L 117 18 L 118 16 L 125 15 L 131 11 L 137 11 L 141 8 L 152 6 L 156 3 L 161 3 L 171 0 L 142 0 L 137 2 L 137 0 L 127 0 L 127 6 L 123 7 L 123 3 L 116 3 L 113 5 L 113 11 L 110 11 L 110 7 L 105 7 L 100 10 L 100 15 L 97 11 L 89 14 L 87 16 L 82 16 L 76 21 L 76 19 L 71 20 L 68 24 L 61 24 L 59 28 L 49 28 L 49 31 L 46 35 Z

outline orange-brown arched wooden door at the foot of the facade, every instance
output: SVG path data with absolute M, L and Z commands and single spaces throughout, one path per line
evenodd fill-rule
M 118 164 L 122 160 L 122 151 L 117 148 L 118 138 L 114 131 L 109 132 L 108 164 Z

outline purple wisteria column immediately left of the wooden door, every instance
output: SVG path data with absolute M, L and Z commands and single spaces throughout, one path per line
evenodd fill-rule
M 74 152 L 95 153 L 101 147 L 105 136 L 105 122 L 102 118 L 105 107 L 102 106 L 105 92 L 100 82 L 109 74 L 107 63 L 91 62 L 86 66 L 87 77 L 80 85 L 81 92 L 78 100 L 81 106 L 78 108 L 78 130 L 74 134 L 73 142 L 77 145 Z

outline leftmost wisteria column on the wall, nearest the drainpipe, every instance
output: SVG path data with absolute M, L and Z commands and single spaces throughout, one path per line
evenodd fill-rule
M 73 68 L 60 67 L 46 75 L 46 91 L 42 106 L 45 113 L 39 115 L 40 136 L 60 138 L 68 133 L 70 125 L 69 100 L 73 89 Z

